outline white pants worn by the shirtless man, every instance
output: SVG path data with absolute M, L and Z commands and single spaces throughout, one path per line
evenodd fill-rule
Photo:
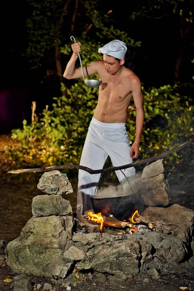
M 83 147 L 80 165 L 92 170 L 103 169 L 104 163 L 109 156 L 114 167 L 133 162 L 130 157 L 131 146 L 126 131 L 125 123 L 104 123 L 92 118 L 86 141 Z M 124 171 L 126 177 L 134 176 L 134 167 Z M 119 182 L 125 178 L 121 171 L 115 171 Z M 101 174 L 89 174 L 79 170 L 77 210 L 78 214 L 84 214 L 92 209 L 90 196 L 95 194 Z

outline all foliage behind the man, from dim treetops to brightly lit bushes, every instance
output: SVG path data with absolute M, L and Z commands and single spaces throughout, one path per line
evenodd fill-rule
M 24 120 L 22 129 L 12 131 L 16 143 L 9 148 L 8 155 L 15 162 L 14 166 L 43 167 L 79 163 L 90 119 L 97 104 L 98 89 L 87 87 L 83 79 L 64 81 L 61 78 L 62 63 L 66 64 L 71 54 L 72 34 L 82 42 L 81 56 L 83 65 L 87 65 L 101 59 L 98 48 L 114 38 L 124 41 L 129 48 L 138 49 L 141 38 L 134 39 L 130 30 L 143 15 L 158 19 L 176 14 L 184 23 L 188 22 L 190 27 L 193 16 L 190 10 L 187 14 L 186 2 L 157 0 L 154 5 L 152 1 L 130 2 L 130 13 L 123 17 L 123 21 L 119 21 L 116 0 L 28 0 L 33 13 L 27 21 L 29 48 L 26 54 L 32 67 L 55 63 L 56 73 L 61 80 L 61 97 L 54 97 L 52 106 L 46 106 L 42 116 L 35 117 L 30 124 Z M 123 14 L 126 16 L 127 12 L 123 11 Z M 76 66 L 79 66 L 78 62 Z M 92 79 L 96 77 L 92 76 Z M 145 124 L 139 159 L 149 158 L 193 140 L 194 102 L 191 89 L 191 84 L 179 82 L 145 89 L 142 82 Z M 135 137 L 135 113 L 132 101 L 126 124 L 131 143 Z M 193 147 L 190 152 L 191 164 L 194 162 Z M 179 153 L 169 157 L 171 171 L 176 164 L 180 164 L 180 160 Z

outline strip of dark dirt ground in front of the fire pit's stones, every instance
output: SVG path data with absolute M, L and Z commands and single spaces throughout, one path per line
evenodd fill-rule
M 0 291 L 13 291 L 11 282 L 6 283 L 6 278 L 13 279 L 14 274 L 12 270 L 4 264 L 0 266 Z M 40 291 L 43 290 L 44 283 L 49 283 L 52 290 L 66 291 L 66 287 L 60 287 L 59 283 L 53 278 L 37 277 L 28 275 L 33 290 L 37 290 L 37 284 L 41 284 Z M 83 279 L 84 278 L 84 279 Z M 152 279 L 146 273 L 141 271 L 141 274 L 130 278 L 125 282 L 116 282 L 113 279 L 107 279 L 100 282 L 93 277 L 89 279 L 87 274 L 80 274 L 80 278 L 73 285 L 71 291 L 194 291 L 194 267 L 189 268 L 186 272 L 182 267 L 178 270 L 169 272 L 167 275 L 161 276 L 160 279 Z

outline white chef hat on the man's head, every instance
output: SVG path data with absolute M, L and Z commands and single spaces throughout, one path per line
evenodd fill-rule
M 119 60 L 124 59 L 125 53 L 127 51 L 127 46 L 121 40 L 115 39 L 107 43 L 104 47 L 98 49 L 98 52 L 107 54 L 111 57 L 115 57 Z

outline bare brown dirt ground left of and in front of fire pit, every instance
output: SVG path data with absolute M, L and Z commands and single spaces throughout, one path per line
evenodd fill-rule
M 31 203 L 32 198 L 40 194 L 37 189 L 39 178 L 42 174 L 8 174 L 7 171 L 12 169 L 11 161 L 6 159 L 4 154 L 5 147 L 12 143 L 10 135 L 0 135 L 0 239 L 10 242 L 20 235 L 21 229 L 32 217 Z M 74 193 L 64 195 L 63 198 L 70 201 L 73 212 L 76 206 L 76 177 L 71 181 Z M 175 203 L 194 210 L 194 195 L 185 195 L 184 199 L 176 197 Z M 186 271 L 185 271 L 186 270 Z M 17 275 L 6 265 L 5 261 L 0 261 L 0 291 L 11 291 L 11 282 L 6 283 L 6 278 Z M 30 276 L 30 275 L 29 275 Z M 45 277 L 30 276 L 31 281 L 36 287 L 37 283 L 42 285 L 50 283 L 53 290 L 65 291 L 66 287 L 60 287 L 53 279 Z M 84 278 L 84 280 L 82 279 Z M 186 269 L 181 266 L 176 272 L 169 272 L 168 275 L 161 276 L 161 279 L 151 279 L 147 274 L 141 273 L 127 282 L 115 282 L 108 279 L 106 282 L 98 280 L 89 280 L 88 275 L 80 274 L 80 280 L 71 286 L 72 291 L 177 291 L 192 290 L 194 291 L 194 265 L 188 265 Z M 180 289 L 180 287 L 182 287 Z M 187 288 L 187 289 L 186 289 Z M 36 290 L 34 288 L 34 290 Z

